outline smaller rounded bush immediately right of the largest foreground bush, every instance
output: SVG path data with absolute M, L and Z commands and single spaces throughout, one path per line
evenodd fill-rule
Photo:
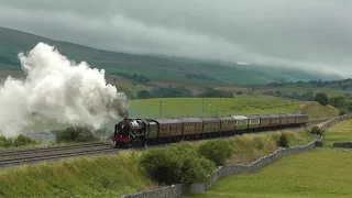
M 226 164 L 233 154 L 233 148 L 226 141 L 208 141 L 198 147 L 200 155 L 205 156 L 209 161 L 213 162 L 217 166 L 222 166 Z

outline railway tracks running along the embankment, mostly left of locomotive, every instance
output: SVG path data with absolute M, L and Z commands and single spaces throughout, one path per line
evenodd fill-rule
M 309 127 L 324 121 L 327 120 L 308 122 L 307 125 Z M 152 145 L 151 147 L 165 145 Z M 140 147 L 136 150 L 145 150 L 145 147 Z M 28 150 L 7 150 L 0 151 L 0 169 L 15 167 L 23 164 L 34 164 L 43 161 L 59 161 L 79 156 L 112 154 L 118 153 L 119 151 L 121 150 L 114 148 L 108 143 L 85 143 L 53 147 L 35 147 Z

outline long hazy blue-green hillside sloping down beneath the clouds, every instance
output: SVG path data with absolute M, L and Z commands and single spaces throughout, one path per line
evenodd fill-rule
M 211 87 L 228 84 L 263 85 L 273 81 L 338 79 L 337 76 L 317 76 L 295 69 L 108 52 L 6 28 L 0 28 L 0 69 L 19 70 L 18 53 L 33 48 L 38 42 L 54 45 L 69 58 L 76 62 L 85 61 L 92 67 L 105 68 L 108 73 L 144 75 L 154 81 Z

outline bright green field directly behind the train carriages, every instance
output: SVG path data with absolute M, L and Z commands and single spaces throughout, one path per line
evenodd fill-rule
M 162 109 L 161 109 L 161 101 Z M 205 116 L 294 113 L 299 101 L 276 97 L 239 96 L 235 98 L 206 98 Z M 131 117 L 170 118 L 202 116 L 201 98 L 162 98 L 130 101 Z M 162 111 L 162 113 L 161 113 Z

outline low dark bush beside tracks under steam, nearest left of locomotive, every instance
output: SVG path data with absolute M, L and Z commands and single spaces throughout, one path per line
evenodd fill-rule
M 92 142 L 98 139 L 88 128 L 69 127 L 56 133 L 56 142 Z

